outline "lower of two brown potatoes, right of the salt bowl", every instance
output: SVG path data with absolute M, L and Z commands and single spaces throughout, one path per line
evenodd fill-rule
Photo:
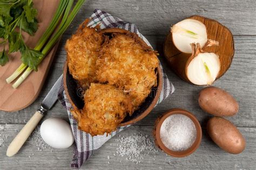
M 215 144 L 228 153 L 238 154 L 245 149 L 245 138 L 237 127 L 224 118 L 213 117 L 208 120 L 207 132 Z

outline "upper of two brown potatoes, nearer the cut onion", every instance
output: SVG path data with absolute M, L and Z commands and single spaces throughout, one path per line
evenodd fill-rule
M 199 93 L 199 106 L 215 116 L 232 116 L 239 110 L 235 99 L 226 91 L 217 87 L 206 87 Z

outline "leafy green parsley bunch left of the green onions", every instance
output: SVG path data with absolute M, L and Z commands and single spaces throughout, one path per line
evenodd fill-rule
M 3 38 L 0 44 L 9 43 L 8 53 L 20 51 L 22 63 L 33 70 L 37 70 L 43 54 L 26 46 L 22 31 L 31 36 L 35 34 L 38 29 L 36 16 L 32 0 L 0 0 L 0 38 Z M 5 50 L 0 52 L 0 65 L 9 61 L 8 53 Z

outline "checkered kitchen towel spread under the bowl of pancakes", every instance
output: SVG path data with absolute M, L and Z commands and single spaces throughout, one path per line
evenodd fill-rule
M 100 29 L 122 28 L 125 30 L 129 30 L 131 32 L 137 33 L 139 35 L 139 37 L 142 38 L 147 43 L 147 45 L 150 45 L 150 43 L 147 41 L 147 39 L 142 34 L 139 33 L 136 25 L 131 24 L 129 22 L 124 22 L 120 18 L 114 17 L 114 16 L 110 15 L 109 13 L 106 13 L 104 11 L 96 9 L 91 16 L 91 22 L 88 23 L 88 26 L 94 27 L 98 24 L 100 24 Z M 161 101 L 163 101 L 171 93 L 174 92 L 174 87 L 169 82 L 169 79 L 167 78 L 166 74 L 164 73 L 162 66 L 161 66 L 161 71 L 163 72 L 163 87 L 162 87 L 160 98 L 159 98 L 157 104 L 159 104 Z M 127 126 L 119 127 L 117 131 L 112 132 L 111 135 L 108 135 L 107 137 L 106 137 L 106 135 L 97 135 L 95 137 L 91 137 L 90 134 L 80 131 L 77 128 L 77 121 L 75 120 L 75 118 L 73 118 L 73 115 L 70 112 L 72 109 L 72 106 L 69 103 L 69 100 L 65 95 L 65 91 L 64 91 L 64 87 L 63 87 L 63 80 L 62 80 L 62 85 L 60 86 L 60 89 L 58 92 L 58 98 L 59 98 L 60 103 L 62 103 L 62 105 L 68 111 L 71 128 L 73 131 L 73 135 L 75 137 L 76 145 L 74 147 L 73 160 L 71 162 L 71 167 L 73 167 L 73 168 L 79 168 L 80 166 L 82 166 L 82 164 L 87 159 L 89 159 L 90 156 L 93 154 L 93 151 L 98 149 L 107 140 L 109 140 L 114 135 L 116 135 L 118 132 L 124 130 L 124 128 L 127 127 Z

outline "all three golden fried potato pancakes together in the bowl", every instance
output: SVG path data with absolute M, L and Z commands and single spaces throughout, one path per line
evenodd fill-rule
M 83 110 L 72 112 L 80 130 L 111 133 L 157 85 L 157 53 L 131 32 L 104 33 L 86 20 L 66 42 L 70 74 L 89 87 Z

